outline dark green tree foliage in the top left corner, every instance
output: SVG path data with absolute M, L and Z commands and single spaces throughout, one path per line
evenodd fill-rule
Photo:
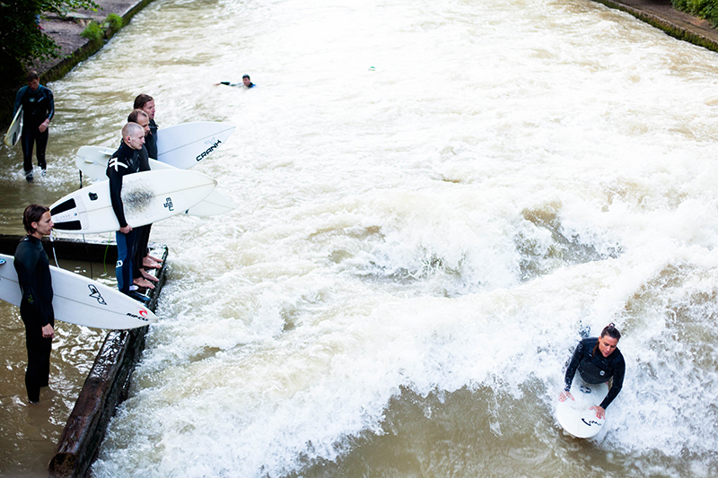
M 39 17 L 96 8 L 93 0 L 0 0 L 0 82 L 16 83 L 27 66 L 58 56 L 55 41 L 39 30 Z

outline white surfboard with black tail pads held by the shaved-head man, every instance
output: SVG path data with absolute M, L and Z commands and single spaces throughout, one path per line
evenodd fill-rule
M 204 174 L 163 169 L 128 174 L 122 179 L 125 219 L 132 227 L 184 213 L 215 189 Z M 90 234 L 119 230 L 109 198 L 109 179 L 74 191 L 50 206 L 55 229 Z

